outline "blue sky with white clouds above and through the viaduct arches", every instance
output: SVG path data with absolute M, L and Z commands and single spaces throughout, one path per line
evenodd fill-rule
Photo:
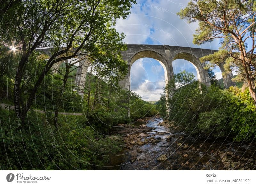
M 218 50 L 218 40 L 200 46 L 192 43 L 198 23 L 188 24 L 176 15 L 187 3 L 188 0 L 137 0 L 137 4 L 132 5 L 131 14 L 124 20 L 117 20 L 115 28 L 126 35 L 124 42 L 127 44 L 168 44 Z M 194 66 L 186 60 L 173 61 L 173 70 L 175 74 L 186 70 L 197 76 Z M 214 69 L 214 73 L 217 78 L 222 78 L 219 68 Z M 164 85 L 164 69 L 158 61 L 141 58 L 134 62 L 131 89 L 143 100 L 158 100 Z

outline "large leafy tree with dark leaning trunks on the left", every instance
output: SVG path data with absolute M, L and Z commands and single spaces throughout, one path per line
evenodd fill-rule
M 16 116 L 22 123 L 45 74 L 54 64 L 88 56 L 106 66 L 124 64 L 120 54 L 126 47 L 122 42 L 124 35 L 112 26 L 116 19 L 125 18 L 130 13 L 131 3 L 135 1 L 39 0 L 15 1 L 10 9 L 4 8 L 1 41 L 6 46 L 14 44 L 20 53 L 13 94 Z M 15 19 L 10 19 L 13 15 Z M 51 55 L 44 68 L 37 72 L 34 85 L 26 91 L 27 98 L 23 100 L 24 76 L 27 66 L 31 65 L 31 56 L 39 56 L 38 47 L 52 48 Z

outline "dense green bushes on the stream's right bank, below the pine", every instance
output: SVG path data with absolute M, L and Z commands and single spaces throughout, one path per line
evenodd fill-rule
M 172 95 L 168 102 L 165 102 L 166 95 L 161 97 L 162 108 L 169 108 L 168 119 L 175 121 L 176 126 L 189 134 L 232 137 L 238 142 L 256 136 L 256 107 L 248 89 L 244 92 L 235 87 L 222 90 L 216 85 L 207 88 L 188 78 L 188 73 L 181 73 L 183 75 L 175 76 L 174 81 L 182 82 L 179 78 L 184 77 L 188 81 L 183 81 L 185 83 L 177 89 L 171 84 L 165 88 L 165 93 Z M 165 112 L 161 113 L 165 116 Z

